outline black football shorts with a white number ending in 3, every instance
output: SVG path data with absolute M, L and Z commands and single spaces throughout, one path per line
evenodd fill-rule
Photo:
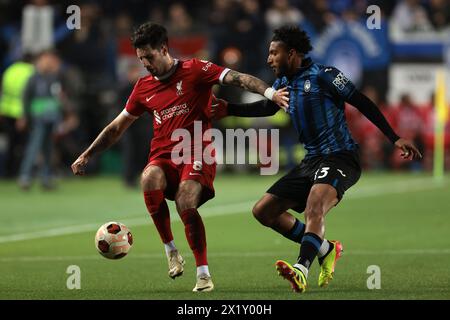
M 275 182 L 267 193 L 297 202 L 299 205 L 292 209 L 303 212 L 314 184 L 325 183 L 333 186 L 340 201 L 345 191 L 354 185 L 360 176 L 358 151 L 340 151 L 304 159 Z

